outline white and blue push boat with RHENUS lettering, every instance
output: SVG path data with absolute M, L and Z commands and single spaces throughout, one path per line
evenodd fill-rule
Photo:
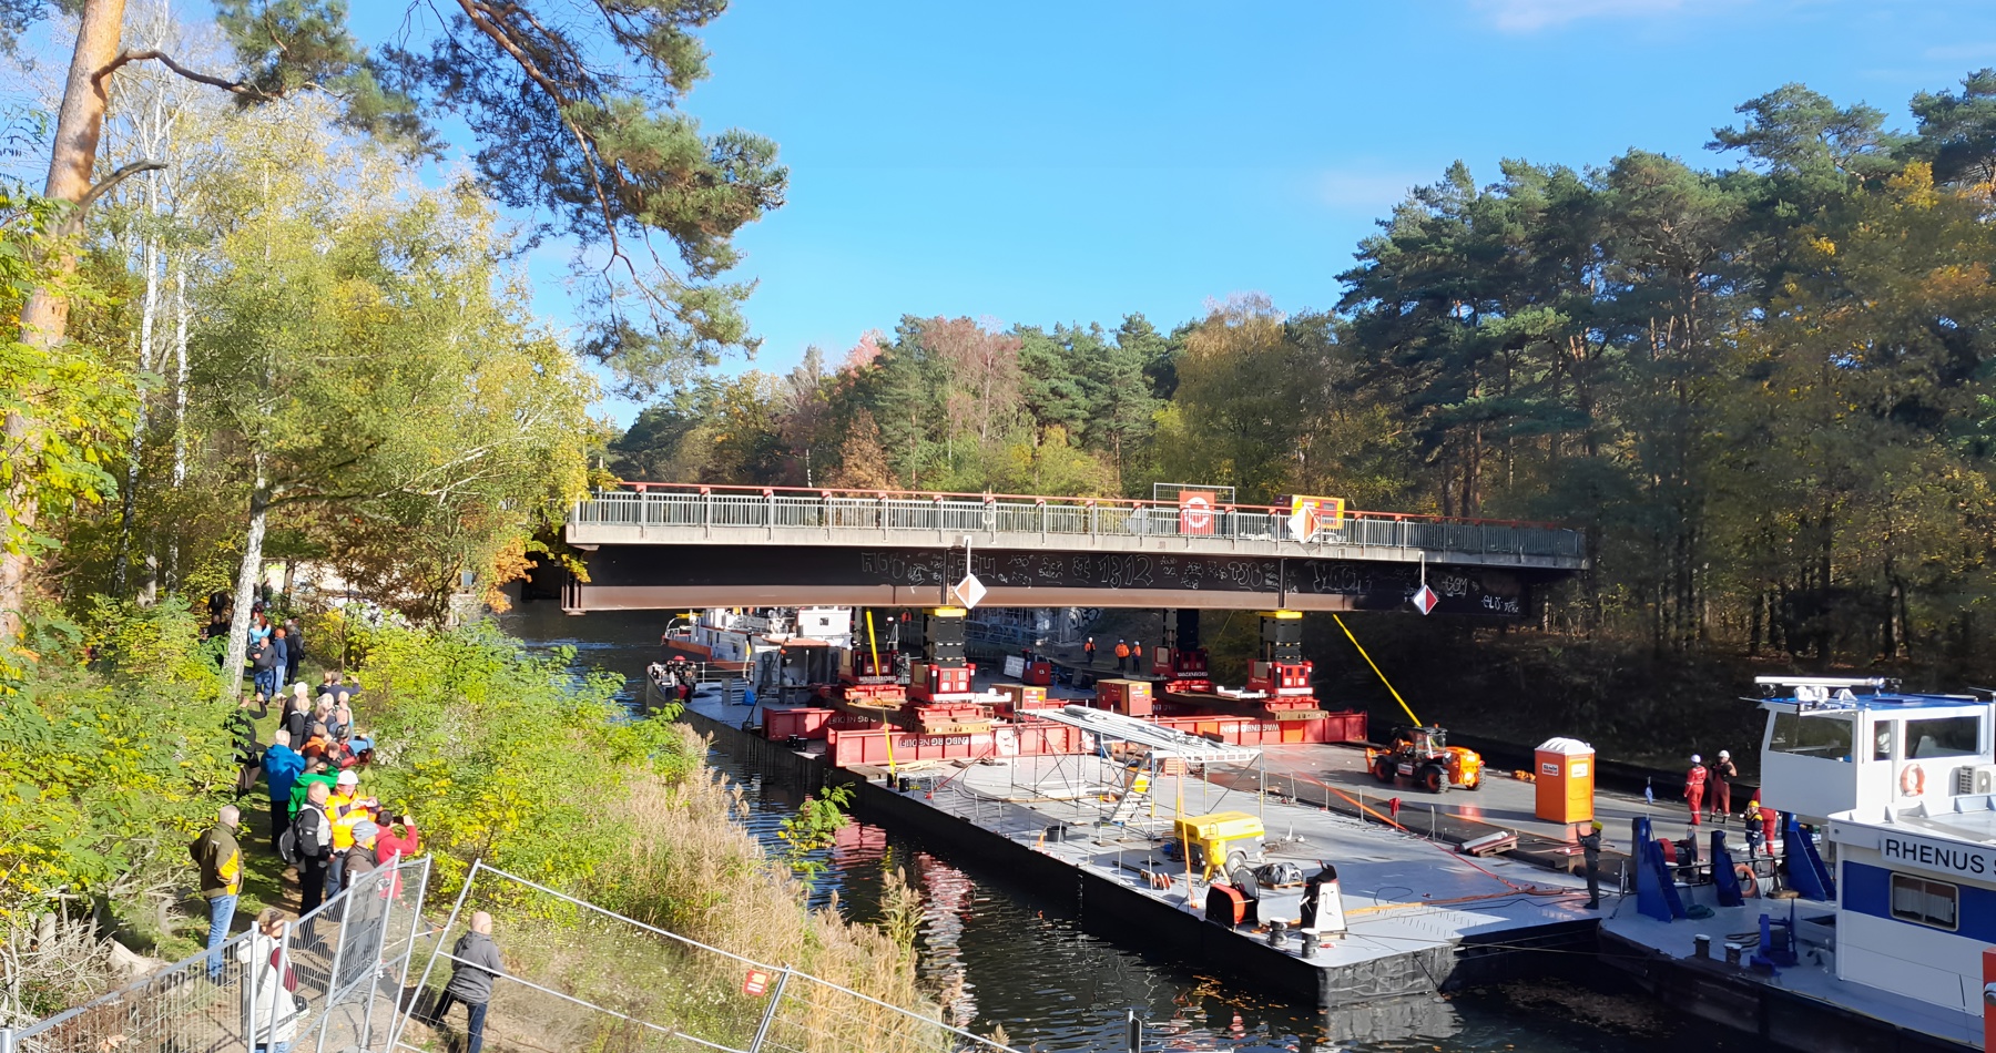
M 1790 1049 L 1996 1047 L 1996 704 L 1888 678 L 1756 686 L 1774 844 L 1711 830 L 1707 850 L 1637 820 L 1603 961 Z

